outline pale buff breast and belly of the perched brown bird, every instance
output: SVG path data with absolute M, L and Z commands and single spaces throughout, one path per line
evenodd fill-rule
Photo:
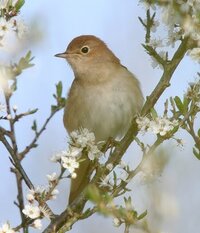
M 94 132 L 97 141 L 121 137 L 136 112 L 134 91 L 108 86 L 81 90 L 70 96 L 65 108 L 64 125 L 68 132 L 80 127 Z

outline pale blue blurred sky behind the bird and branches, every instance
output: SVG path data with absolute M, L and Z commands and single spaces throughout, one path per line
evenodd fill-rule
M 67 93 L 73 73 L 66 62 L 55 58 L 54 54 L 63 52 L 76 36 L 93 34 L 102 38 L 122 64 L 138 77 L 144 96 L 151 93 L 162 72 L 151 67 L 151 59 L 141 46 L 144 30 L 138 16 L 143 15 L 144 8 L 134 0 L 26 1 L 21 16 L 27 23 L 38 24 L 43 36 L 40 42 L 31 42 L 27 46 L 27 50 L 31 49 L 35 57 L 35 66 L 19 77 L 18 91 L 12 99 L 19 112 L 39 108 L 33 117 L 24 118 L 17 124 L 19 149 L 24 148 L 33 137 L 30 130 L 33 119 L 37 119 L 40 126 L 48 117 L 50 105 L 54 103 L 52 94 L 58 81 L 63 82 L 64 93 Z M 190 58 L 182 61 L 171 87 L 158 102 L 159 112 L 162 112 L 163 102 L 167 97 L 182 96 L 188 82 L 194 80 L 198 69 L 199 64 L 195 64 Z M 46 174 L 57 169 L 49 158 L 66 148 L 67 134 L 62 124 L 62 115 L 63 111 L 60 111 L 54 117 L 40 138 L 39 147 L 32 150 L 23 161 L 24 168 L 35 185 L 47 184 Z M 175 142 L 165 143 L 171 159 L 162 176 L 149 185 L 135 182 L 130 194 L 139 212 L 148 209 L 148 218 L 155 233 L 191 233 L 200 229 L 200 161 L 191 153 L 191 138 L 186 137 L 183 132 L 179 133 L 179 138 L 186 141 L 184 149 L 177 148 Z M 132 153 L 129 149 L 125 159 L 128 163 L 136 164 L 139 154 L 134 153 L 134 157 L 131 157 Z M 13 204 L 16 199 L 16 185 L 9 167 L 8 154 L 0 144 L 0 224 L 9 220 L 15 226 L 19 223 L 19 213 Z M 153 187 L 157 187 L 157 191 L 162 194 L 160 197 L 159 193 L 154 193 L 154 200 L 151 195 Z M 56 213 L 62 211 L 62 207 L 66 205 L 68 188 L 66 181 L 59 188 L 60 195 L 52 203 Z M 152 213 L 157 214 L 157 218 Z M 95 215 L 75 224 L 71 232 L 102 231 L 117 233 L 123 232 L 123 228 L 113 227 L 111 218 Z

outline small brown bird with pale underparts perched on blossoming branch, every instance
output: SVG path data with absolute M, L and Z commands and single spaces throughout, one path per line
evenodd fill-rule
M 74 80 L 67 95 L 63 122 L 67 132 L 86 128 L 96 141 L 121 138 L 143 106 L 138 79 L 98 37 L 75 37 L 63 53 Z M 73 203 L 89 183 L 89 159 L 80 163 L 71 180 L 68 203 Z

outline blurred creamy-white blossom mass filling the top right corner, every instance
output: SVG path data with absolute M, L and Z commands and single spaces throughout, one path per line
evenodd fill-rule
M 167 27 L 167 35 L 162 39 L 151 38 L 149 45 L 153 48 L 161 48 L 165 46 L 175 46 L 175 43 L 189 36 L 196 46 L 188 52 L 188 55 L 196 61 L 200 62 L 200 4 L 199 0 L 167 0 L 149 1 L 140 0 L 147 9 L 152 8 L 153 11 L 159 12 L 162 23 Z M 157 8 L 159 6 L 159 8 Z M 155 32 L 158 27 L 158 21 L 154 18 L 151 32 Z M 145 21 L 144 21 L 145 23 Z M 163 37 L 163 32 L 162 32 Z M 155 66 L 155 64 L 154 64 Z

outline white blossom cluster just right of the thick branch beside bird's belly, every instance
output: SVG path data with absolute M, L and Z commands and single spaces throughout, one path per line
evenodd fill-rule
M 166 135 L 174 127 L 178 126 L 177 120 L 170 120 L 166 116 L 156 117 L 150 120 L 148 117 L 138 117 L 136 120 L 138 128 L 142 132 L 151 132 L 154 134 L 160 134 L 160 136 Z

